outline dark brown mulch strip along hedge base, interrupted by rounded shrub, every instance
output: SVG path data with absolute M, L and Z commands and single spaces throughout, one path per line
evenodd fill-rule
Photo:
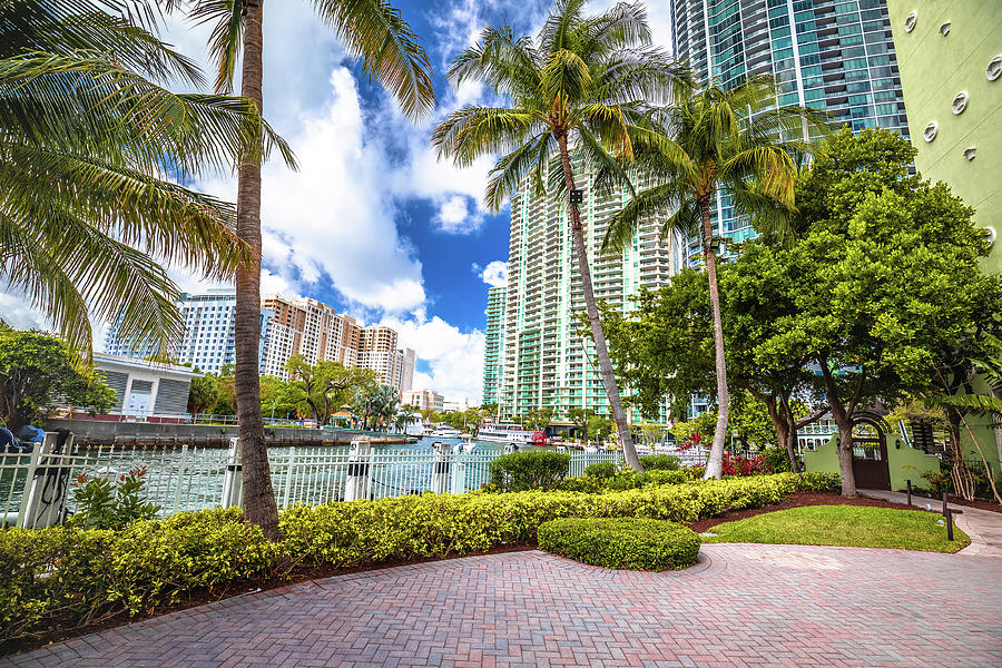
M 957 503 L 960 503 L 957 501 Z M 766 508 L 756 508 L 749 510 L 738 510 L 734 512 L 725 513 L 718 518 L 708 518 L 705 520 L 699 520 L 697 522 L 692 522 L 687 524 L 692 531 L 697 533 L 701 533 L 707 531 L 711 527 L 720 524 L 723 522 L 731 522 L 734 520 L 741 520 L 745 518 L 750 518 L 753 515 L 774 512 L 776 510 L 786 510 L 789 508 L 799 508 L 802 505 L 875 505 L 880 508 L 897 508 L 902 510 L 907 510 L 908 507 L 903 503 L 893 503 L 891 501 L 882 501 L 877 499 L 865 499 L 862 497 L 856 497 L 853 499 L 846 499 L 845 497 L 841 497 L 836 493 L 795 493 L 790 494 L 787 500 L 783 503 L 777 503 L 775 505 L 768 505 Z M 980 507 L 979 507 L 980 508 Z M 996 507 L 998 508 L 998 507 Z M 912 507 L 911 510 L 921 510 L 920 508 Z M 502 552 L 521 552 L 525 550 L 534 550 L 537 544 L 534 541 L 523 542 L 523 543 L 509 543 L 505 546 L 499 546 L 492 550 L 488 550 L 485 552 L 472 552 L 468 554 L 455 554 L 451 557 L 446 557 L 445 559 L 459 559 L 463 557 L 479 557 L 482 554 L 499 554 Z M 37 649 L 39 647 L 43 647 L 51 642 L 59 642 L 61 640 L 67 640 L 69 638 L 76 638 L 78 636 L 86 636 L 89 633 L 96 633 L 99 631 L 104 631 L 106 629 L 110 629 L 114 627 L 119 627 L 128 623 L 134 623 L 137 621 L 143 621 L 144 619 L 149 619 L 151 617 L 158 617 L 160 615 L 168 615 L 170 612 L 176 612 L 178 610 L 186 610 L 188 608 L 195 608 L 197 606 L 204 606 L 206 603 L 212 603 L 218 600 L 223 600 L 226 598 L 232 598 L 235 596 L 244 596 L 247 593 L 256 593 L 258 591 L 267 591 L 269 589 L 277 589 L 279 587 L 286 587 L 288 584 L 294 584 L 296 582 L 306 582 L 310 580 L 322 580 L 324 578 L 332 578 L 334 576 L 343 576 L 346 573 L 356 573 L 362 571 L 372 571 L 380 570 L 384 568 L 391 568 L 394 566 L 406 566 L 411 563 L 422 563 L 425 561 L 439 561 L 438 559 L 420 559 L 413 561 L 389 561 L 382 562 L 372 566 L 365 567 L 355 567 L 355 568 L 333 568 L 333 567 L 318 567 L 314 564 L 294 564 L 292 567 L 287 567 L 288 570 L 284 577 L 273 577 L 273 578 L 258 578 L 253 580 L 242 580 L 238 582 L 232 582 L 228 586 L 214 590 L 200 590 L 193 591 L 185 596 L 181 600 L 173 606 L 161 606 L 159 608 L 155 608 L 149 610 L 145 615 L 139 615 L 137 617 L 128 617 L 125 613 L 116 615 L 115 617 L 110 617 L 107 619 L 102 619 L 99 622 L 91 623 L 85 627 L 77 627 L 71 629 L 56 629 L 52 631 L 45 632 L 39 637 L 35 638 L 21 638 L 8 644 L 0 644 L 0 656 L 18 654 L 30 651 L 32 649 Z

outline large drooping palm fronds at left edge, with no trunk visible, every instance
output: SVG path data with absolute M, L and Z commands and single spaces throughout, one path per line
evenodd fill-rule
M 160 353 L 180 334 L 156 259 L 222 278 L 247 255 L 233 207 L 178 183 L 272 145 L 292 159 L 246 100 L 164 88 L 202 75 L 141 9 L 0 3 L 0 281 L 88 353 L 91 318 Z

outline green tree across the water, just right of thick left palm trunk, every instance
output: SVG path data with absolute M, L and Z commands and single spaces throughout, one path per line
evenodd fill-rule
M 347 367 L 327 361 L 310 364 L 301 355 L 289 357 L 285 369 L 289 380 L 285 383 L 283 399 L 308 411 L 317 426 L 326 424 L 358 390 L 375 383 L 377 377 L 371 369 Z

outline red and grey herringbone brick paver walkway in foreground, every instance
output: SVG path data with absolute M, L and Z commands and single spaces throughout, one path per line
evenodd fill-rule
M 1002 560 L 711 544 L 684 572 L 541 552 L 306 582 L 2 666 L 1002 666 Z

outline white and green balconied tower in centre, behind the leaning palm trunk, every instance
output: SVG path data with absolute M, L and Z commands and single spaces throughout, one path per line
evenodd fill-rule
M 581 222 L 595 295 L 627 312 L 641 286 L 656 288 L 678 269 L 679 246 L 660 238 L 661 220 L 647 219 L 621 253 L 602 254 L 609 217 L 628 202 L 628 191 L 597 195 L 595 175 L 576 160 L 576 179 L 586 184 Z M 642 185 L 642 184 L 641 184 Z M 568 224 L 566 198 L 523 188 L 511 198 L 511 240 L 504 308 L 503 367 L 499 403 L 505 418 L 536 409 L 566 416 L 571 407 L 609 413 L 593 344 L 582 336 L 581 275 Z

